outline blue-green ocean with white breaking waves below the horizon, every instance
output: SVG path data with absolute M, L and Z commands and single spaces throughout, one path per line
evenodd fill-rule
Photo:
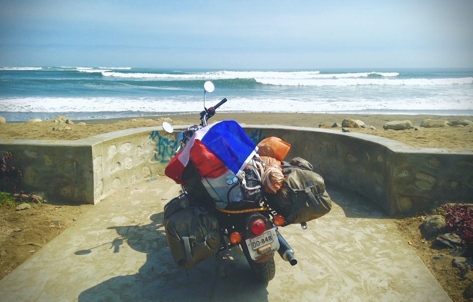
M 473 115 L 473 69 L 230 71 L 131 67 L 0 67 L 7 122 L 194 113 L 204 82 L 223 112 Z

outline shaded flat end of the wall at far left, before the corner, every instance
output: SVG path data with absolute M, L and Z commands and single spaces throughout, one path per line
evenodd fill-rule
M 94 203 L 92 148 L 84 142 L 0 140 L 0 155 L 12 153 L 8 167 L 23 174 L 16 192 L 34 192 L 66 202 Z M 0 184 L 0 189 L 3 183 Z

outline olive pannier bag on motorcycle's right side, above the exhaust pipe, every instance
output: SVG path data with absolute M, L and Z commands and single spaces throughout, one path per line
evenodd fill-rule
M 310 164 L 310 163 L 309 163 Z M 283 169 L 284 181 L 276 194 L 266 194 L 269 205 L 287 224 L 304 223 L 324 216 L 332 209 L 324 178 L 300 167 Z

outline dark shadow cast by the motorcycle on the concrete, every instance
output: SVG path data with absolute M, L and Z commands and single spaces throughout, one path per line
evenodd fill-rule
M 113 277 L 82 292 L 79 302 L 268 301 L 268 283 L 260 283 L 252 275 L 239 247 L 224 253 L 226 277 L 221 276 L 216 257 L 183 270 L 169 252 L 163 213 L 153 214 L 151 220 L 147 225 L 109 228 L 120 236 L 110 243 L 114 253 L 125 252 L 121 245 L 126 243 L 133 250 L 145 253 L 146 262 L 137 274 Z

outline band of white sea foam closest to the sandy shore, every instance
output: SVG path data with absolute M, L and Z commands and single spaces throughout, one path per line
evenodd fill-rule
M 209 104 L 217 103 L 208 100 Z M 473 110 L 473 100 L 444 98 L 404 99 L 396 102 L 382 100 L 312 101 L 291 98 L 234 98 L 219 111 L 248 112 L 337 112 L 362 110 Z M 185 97 L 155 98 L 3 98 L 0 111 L 6 112 L 199 112 L 202 100 Z

